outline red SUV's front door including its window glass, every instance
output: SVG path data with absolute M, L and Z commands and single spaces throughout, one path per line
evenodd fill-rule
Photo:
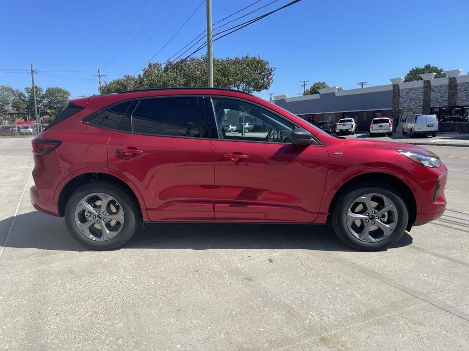
M 215 221 L 313 222 L 328 171 L 318 142 L 290 142 L 295 123 L 258 104 L 235 98 L 206 99 L 215 165 Z M 224 121 L 253 123 L 226 134 Z

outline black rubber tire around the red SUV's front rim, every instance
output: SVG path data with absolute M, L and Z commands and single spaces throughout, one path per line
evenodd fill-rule
M 398 211 L 398 224 L 393 232 L 387 238 L 377 242 L 359 240 L 350 232 L 346 223 L 346 213 L 348 208 L 352 205 L 352 202 L 357 197 L 367 193 L 378 193 L 387 196 L 394 203 L 395 208 Z M 346 189 L 346 191 L 343 192 L 340 198 L 335 202 L 335 206 L 332 209 L 331 224 L 336 235 L 346 245 L 357 250 L 378 251 L 391 246 L 401 239 L 407 228 L 408 221 L 409 213 L 407 205 L 400 193 L 385 183 L 377 182 L 373 184 L 357 184 Z

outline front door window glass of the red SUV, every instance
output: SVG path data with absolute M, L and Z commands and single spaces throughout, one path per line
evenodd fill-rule
M 212 98 L 219 136 L 227 140 L 290 143 L 295 125 L 260 106 L 240 100 Z M 223 125 L 235 125 L 226 129 Z

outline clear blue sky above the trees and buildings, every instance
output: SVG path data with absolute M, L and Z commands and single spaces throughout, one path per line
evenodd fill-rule
M 262 0 L 250 9 L 271 1 Z M 255 14 L 288 1 L 279 0 Z M 254 0 L 212 2 L 216 22 Z M 28 69 L 32 62 L 39 70 L 37 85 L 62 86 L 73 97 L 96 93 L 93 74 L 98 67 L 107 80 L 134 73 L 160 50 L 201 0 L 145 3 L 0 0 L 0 85 L 21 89 L 30 85 L 28 73 L 2 70 Z M 303 79 L 352 89 L 358 81 L 387 84 L 389 78 L 404 76 L 410 68 L 426 63 L 460 68 L 467 74 L 468 13 L 467 0 L 302 0 L 214 42 L 214 56 L 260 55 L 276 67 L 268 92 L 291 97 L 302 92 Z M 202 4 L 154 61 L 166 61 L 205 25 Z M 125 50 L 109 63 L 120 47 Z M 268 97 L 267 91 L 257 95 Z

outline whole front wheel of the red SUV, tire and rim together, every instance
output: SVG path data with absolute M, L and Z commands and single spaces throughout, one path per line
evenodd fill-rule
M 357 185 L 348 189 L 333 209 L 332 227 L 348 246 L 382 250 L 398 241 L 409 214 L 402 196 L 385 184 Z

